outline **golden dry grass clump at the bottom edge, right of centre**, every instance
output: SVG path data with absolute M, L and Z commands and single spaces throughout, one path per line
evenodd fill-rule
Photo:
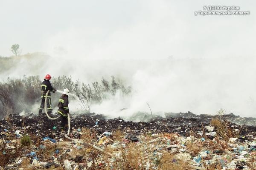
M 163 153 L 163 157 L 160 159 L 158 169 L 161 170 L 193 170 L 187 162 L 177 160 L 171 153 Z

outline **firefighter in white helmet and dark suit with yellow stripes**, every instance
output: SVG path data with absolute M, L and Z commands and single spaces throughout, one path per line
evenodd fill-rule
M 61 115 L 61 131 L 64 131 L 64 128 L 67 127 L 67 114 L 69 114 L 68 108 L 68 95 L 69 90 L 66 88 L 62 92 L 62 96 L 58 102 L 58 114 Z

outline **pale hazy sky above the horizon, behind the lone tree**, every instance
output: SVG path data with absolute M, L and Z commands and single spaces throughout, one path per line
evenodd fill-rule
M 203 6 L 249 16 L 195 16 Z M 253 0 L 0 0 L 0 55 L 64 51 L 95 58 L 255 55 Z

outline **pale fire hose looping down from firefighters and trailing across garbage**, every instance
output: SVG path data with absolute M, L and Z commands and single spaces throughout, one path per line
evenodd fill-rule
M 45 99 L 46 99 L 46 100 L 44 101 L 44 111 L 45 111 L 45 113 L 46 113 L 46 115 L 47 115 L 47 117 L 48 117 L 49 119 L 51 119 L 51 120 L 56 120 L 56 119 L 58 119 L 60 116 L 58 116 L 58 117 L 56 117 L 56 118 L 51 118 L 51 117 L 48 115 L 48 113 L 47 113 L 47 96 L 48 96 L 48 94 L 49 94 L 49 90 L 47 91 L 47 93 L 46 93 L 46 95 L 45 95 Z M 76 142 L 76 140 L 71 139 L 71 138 L 68 136 L 68 135 L 70 134 L 70 113 L 67 113 L 67 119 L 68 119 L 68 130 L 67 130 L 67 134 L 65 134 L 65 138 L 67 138 L 67 139 L 69 139 L 69 140 L 71 140 L 71 141 Z M 94 149 L 96 149 L 96 150 L 98 150 L 98 151 L 100 151 L 100 152 L 102 152 L 102 153 L 106 153 L 106 154 L 109 155 L 109 156 L 113 156 L 111 153 L 105 152 L 102 148 L 97 147 L 97 146 L 95 146 L 95 145 L 93 145 L 93 144 L 90 144 L 90 143 L 87 143 L 87 142 L 80 142 L 80 144 L 88 145 L 88 146 L 93 147 Z

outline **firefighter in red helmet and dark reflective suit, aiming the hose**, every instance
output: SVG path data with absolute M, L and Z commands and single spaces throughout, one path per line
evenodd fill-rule
M 55 88 L 52 87 L 50 79 L 51 79 L 51 75 L 47 74 L 44 77 L 44 81 L 41 83 L 41 105 L 39 107 L 39 113 L 38 116 L 40 116 L 42 114 L 42 110 L 44 109 L 44 102 L 45 100 L 47 100 L 47 113 L 50 114 L 52 113 L 52 104 L 51 104 L 51 93 L 55 93 L 55 91 L 57 91 Z M 47 95 L 47 99 L 46 97 L 46 93 L 47 91 L 50 91 Z

